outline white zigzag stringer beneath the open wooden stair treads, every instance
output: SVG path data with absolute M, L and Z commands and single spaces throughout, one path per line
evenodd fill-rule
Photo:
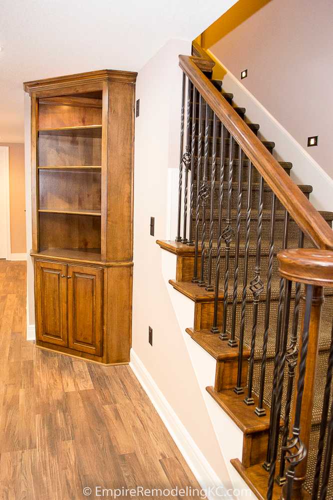
M 244 434 L 206 390 L 207 386 L 214 385 L 216 360 L 186 333 L 186 328 L 193 325 L 194 301 L 179 293 L 169 284 L 169 279 L 174 275 L 176 269 L 176 259 L 176 255 L 168 251 L 161 252 L 162 275 L 232 481 L 234 496 L 236 498 L 256 499 L 257 496 L 250 490 L 230 462 L 235 457 L 242 460 Z M 241 496 L 236 495 L 238 490 L 241 492 Z

